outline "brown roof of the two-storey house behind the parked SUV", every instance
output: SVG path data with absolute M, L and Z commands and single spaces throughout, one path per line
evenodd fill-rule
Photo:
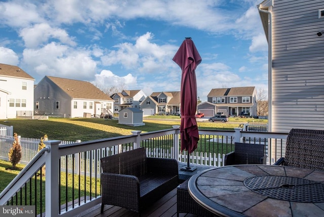
M 232 87 L 212 89 L 207 97 L 216 96 L 252 96 L 255 87 Z

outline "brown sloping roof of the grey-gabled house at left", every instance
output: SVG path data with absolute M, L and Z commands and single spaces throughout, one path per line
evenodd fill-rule
M 97 100 L 111 100 L 112 99 L 102 92 L 99 88 L 90 82 L 78 81 L 72 79 L 57 78 L 52 76 L 45 76 L 60 87 L 71 98 L 79 99 L 97 99 Z

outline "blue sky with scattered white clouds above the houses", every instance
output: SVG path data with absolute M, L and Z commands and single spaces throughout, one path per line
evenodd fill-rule
M 201 58 L 197 95 L 213 88 L 268 89 L 268 47 L 255 0 L 0 1 L 0 62 L 44 76 L 180 91 L 172 61 L 185 37 Z

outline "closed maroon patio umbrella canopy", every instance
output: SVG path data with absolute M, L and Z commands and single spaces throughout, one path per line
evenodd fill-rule
M 186 38 L 173 57 L 182 69 L 181 75 L 181 152 L 193 152 L 199 140 L 197 122 L 194 117 L 197 108 L 197 82 L 195 69 L 201 57 L 191 38 Z

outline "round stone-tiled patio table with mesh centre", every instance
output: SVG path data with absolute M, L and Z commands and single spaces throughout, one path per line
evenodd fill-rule
M 233 165 L 193 175 L 192 198 L 220 216 L 324 216 L 324 171 Z

